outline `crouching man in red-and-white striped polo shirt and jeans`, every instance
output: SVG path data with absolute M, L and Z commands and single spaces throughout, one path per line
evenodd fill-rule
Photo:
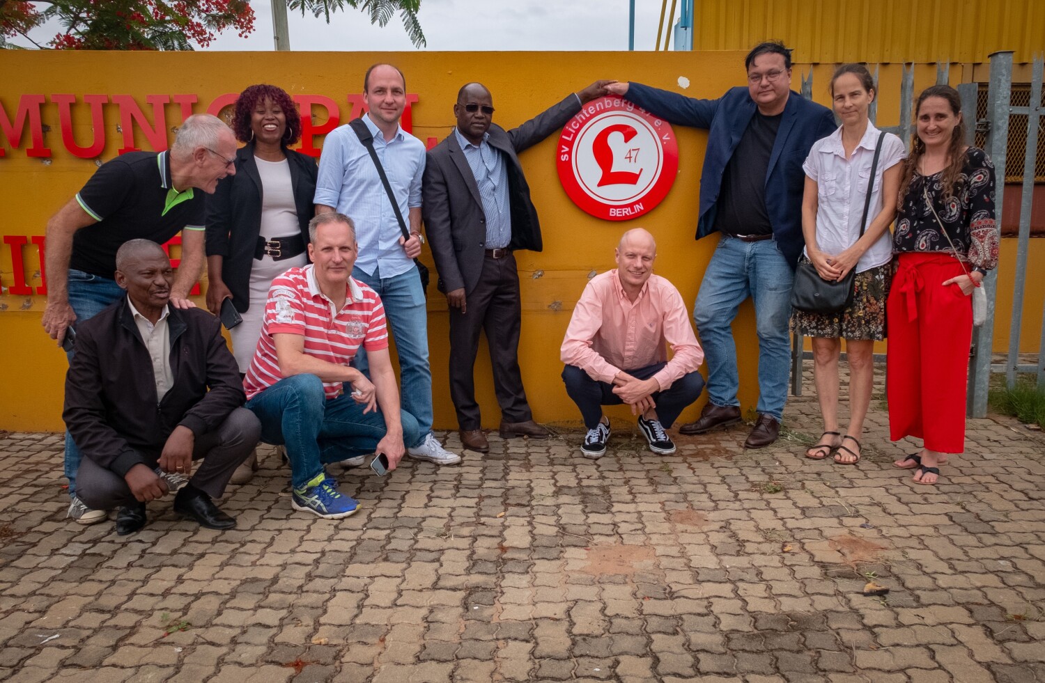
M 286 446 L 291 504 L 340 519 L 357 503 L 338 491 L 324 466 L 361 465 L 377 452 L 394 470 L 422 434 L 399 407 L 381 300 L 351 277 L 355 226 L 343 214 L 322 213 L 308 232 L 312 263 L 273 280 L 243 388 L 247 407 L 261 421 L 261 441 Z M 349 367 L 361 348 L 372 380 Z

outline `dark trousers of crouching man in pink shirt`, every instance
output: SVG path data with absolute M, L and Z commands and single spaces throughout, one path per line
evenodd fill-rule
M 637 370 L 625 370 L 632 377 L 649 379 L 659 372 L 666 362 L 657 362 Z M 576 366 L 566 366 L 562 370 L 562 381 L 566 383 L 566 394 L 581 409 L 584 426 L 595 429 L 602 419 L 602 406 L 620 405 L 624 401 L 613 393 L 613 385 L 591 379 L 586 372 Z M 678 414 L 693 404 L 704 387 L 704 378 L 693 371 L 682 375 L 663 392 L 653 393 L 656 404 L 656 417 L 665 429 L 670 429 Z

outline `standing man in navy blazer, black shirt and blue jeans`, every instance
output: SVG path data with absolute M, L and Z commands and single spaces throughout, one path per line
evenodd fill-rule
M 709 131 L 700 178 L 697 239 L 722 233 L 704 272 L 693 320 L 707 358 L 711 399 L 700 419 L 679 428 L 703 433 L 740 421 L 733 321 L 748 297 L 759 335 L 759 419 L 744 443 L 776 441 L 790 370 L 791 285 L 802 254 L 802 164 L 834 132 L 831 111 L 791 91 L 791 52 L 762 43 L 744 61 L 747 88 L 693 99 L 641 84 L 607 89 L 678 125 Z

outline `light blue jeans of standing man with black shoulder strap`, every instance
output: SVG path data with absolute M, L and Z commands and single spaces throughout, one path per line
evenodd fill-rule
M 381 298 L 389 333 L 395 339 L 399 356 L 399 401 L 402 409 L 417 419 L 421 435 L 426 435 L 432 431 L 433 420 L 428 311 L 417 268 L 412 267 L 393 278 L 381 278 L 376 268 L 372 276 L 354 268 L 352 277 L 367 283 Z M 367 354 L 362 347 L 352 364 L 370 376 Z

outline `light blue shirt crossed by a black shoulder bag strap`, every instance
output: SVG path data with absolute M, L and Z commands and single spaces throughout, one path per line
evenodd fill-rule
M 374 136 L 374 151 L 410 230 L 410 209 L 421 206 L 424 143 L 401 126 L 391 141 L 386 141 L 369 115 L 365 114 L 363 121 Z M 355 223 L 359 243 L 355 267 L 371 276 L 379 268 L 381 278 L 402 275 L 414 267 L 399 244 L 399 221 L 370 152 L 347 124 L 331 131 L 323 142 L 315 203 L 334 207 Z

